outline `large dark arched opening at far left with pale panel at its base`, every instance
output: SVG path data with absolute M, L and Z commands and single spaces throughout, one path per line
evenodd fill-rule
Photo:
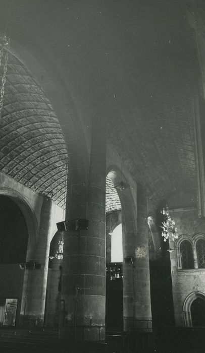
M 20 304 L 26 262 L 28 228 L 15 201 L 0 195 L 0 326 L 15 326 L 20 317 Z

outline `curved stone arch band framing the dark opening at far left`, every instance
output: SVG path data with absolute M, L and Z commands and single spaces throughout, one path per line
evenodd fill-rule
M 0 195 L 5 195 L 10 197 L 17 205 L 20 207 L 28 228 L 28 248 L 27 248 L 27 258 L 30 257 L 32 249 L 35 248 L 37 232 L 38 232 L 38 222 L 37 218 L 32 211 L 31 205 L 28 200 L 20 194 L 18 191 L 10 188 L 0 188 Z

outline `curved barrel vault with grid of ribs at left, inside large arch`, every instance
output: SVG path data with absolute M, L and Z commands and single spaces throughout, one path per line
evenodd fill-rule
M 60 124 L 43 90 L 12 54 L 0 120 L 0 147 L 4 173 L 52 197 L 59 206 L 65 203 L 68 159 Z

